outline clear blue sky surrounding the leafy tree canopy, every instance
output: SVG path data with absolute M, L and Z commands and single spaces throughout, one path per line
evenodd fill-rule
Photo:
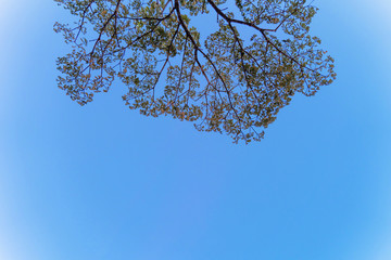
M 56 88 L 50 0 L 0 0 L 1 260 L 391 259 L 391 1 L 316 0 L 337 81 L 261 143 Z

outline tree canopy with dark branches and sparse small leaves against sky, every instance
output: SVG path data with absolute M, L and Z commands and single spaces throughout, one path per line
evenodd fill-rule
M 313 95 L 336 78 L 305 0 L 55 1 L 77 17 L 54 30 L 72 46 L 58 60 L 59 87 L 80 105 L 117 78 L 131 109 L 248 143 L 297 92 Z M 194 18 L 211 15 L 207 34 L 213 26 Z

